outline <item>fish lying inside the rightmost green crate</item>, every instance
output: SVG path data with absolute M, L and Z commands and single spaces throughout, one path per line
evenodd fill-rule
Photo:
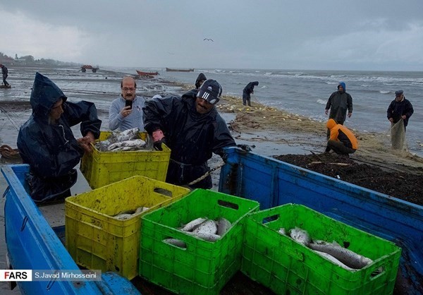
M 286 230 L 284 228 L 279 229 L 278 232 L 279 234 L 286 235 Z M 350 251 L 347 248 L 343 248 L 343 246 L 336 243 L 336 241 L 333 241 L 333 243 L 319 240 L 312 241 L 307 231 L 298 227 L 290 230 L 290 237 L 294 241 L 311 248 L 332 263 L 343 267 L 345 270 L 360 270 L 373 262 L 367 257 Z

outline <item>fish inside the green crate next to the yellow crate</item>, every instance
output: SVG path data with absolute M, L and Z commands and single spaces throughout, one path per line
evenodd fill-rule
M 219 217 L 216 220 L 200 217 L 193 219 L 179 229 L 190 236 L 196 236 L 204 241 L 214 242 L 220 239 L 221 236 L 223 236 L 223 234 L 231 228 L 231 226 L 231 222 L 224 217 Z M 163 241 L 180 248 L 187 248 L 186 243 L 178 239 L 169 238 L 164 239 Z

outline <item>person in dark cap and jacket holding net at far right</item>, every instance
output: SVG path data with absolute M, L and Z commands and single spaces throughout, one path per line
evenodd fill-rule
M 405 131 L 413 113 L 412 104 L 405 98 L 403 90 L 396 91 L 395 100 L 389 104 L 386 111 L 386 116 L 391 122 L 391 144 L 394 150 L 407 150 Z

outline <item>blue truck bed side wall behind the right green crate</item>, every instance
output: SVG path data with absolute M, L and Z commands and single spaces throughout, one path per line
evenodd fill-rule
M 423 206 L 271 157 L 228 148 L 219 191 L 257 200 L 260 209 L 296 203 L 393 241 L 403 251 L 397 283 L 423 294 Z

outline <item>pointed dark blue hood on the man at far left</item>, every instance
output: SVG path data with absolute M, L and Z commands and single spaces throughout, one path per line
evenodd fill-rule
M 51 107 L 60 99 L 66 102 L 66 95 L 49 78 L 40 73 L 35 73 L 34 85 L 31 92 L 31 107 L 34 116 L 47 118 Z

